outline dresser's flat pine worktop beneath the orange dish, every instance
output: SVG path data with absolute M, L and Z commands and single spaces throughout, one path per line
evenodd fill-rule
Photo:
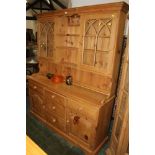
M 69 97 L 71 99 L 79 101 L 88 102 L 90 104 L 95 104 L 98 106 L 103 105 L 106 100 L 108 99 L 107 95 L 79 87 L 76 85 L 66 85 L 65 82 L 55 84 L 50 79 L 47 79 L 46 76 L 40 75 L 40 74 L 33 74 L 29 76 L 29 79 L 32 79 L 33 81 L 36 81 L 44 86 L 46 86 L 51 91 L 55 91 L 56 93 L 59 93 L 61 95 L 64 95 L 66 97 Z

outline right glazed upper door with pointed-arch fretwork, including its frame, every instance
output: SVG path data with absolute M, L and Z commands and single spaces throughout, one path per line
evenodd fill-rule
M 117 14 L 87 15 L 84 20 L 82 65 L 104 73 L 112 72 Z

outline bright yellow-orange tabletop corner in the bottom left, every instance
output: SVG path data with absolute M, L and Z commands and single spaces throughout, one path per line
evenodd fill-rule
M 26 155 L 47 155 L 34 141 L 26 136 Z

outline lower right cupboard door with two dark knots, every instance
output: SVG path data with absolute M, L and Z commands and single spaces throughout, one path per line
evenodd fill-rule
M 91 121 L 86 117 L 76 112 L 69 112 L 69 135 L 82 140 L 84 143 L 92 144 L 93 139 L 93 125 Z

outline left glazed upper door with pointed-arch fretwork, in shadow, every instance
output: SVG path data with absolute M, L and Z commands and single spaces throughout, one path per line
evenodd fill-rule
M 39 23 L 39 56 L 52 57 L 54 50 L 54 22 Z

